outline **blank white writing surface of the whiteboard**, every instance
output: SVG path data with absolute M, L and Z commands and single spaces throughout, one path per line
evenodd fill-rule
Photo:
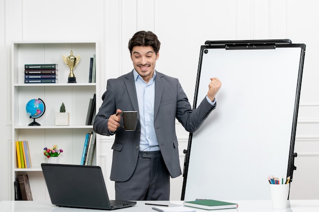
M 193 134 L 184 200 L 270 199 L 268 176 L 287 175 L 301 48 L 206 50 L 197 97 L 210 77 L 222 87 Z

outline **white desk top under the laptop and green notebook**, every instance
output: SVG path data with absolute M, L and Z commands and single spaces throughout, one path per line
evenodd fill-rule
M 318 212 L 319 211 L 319 200 L 289 200 L 287 209 L 279 210 L 273 209 L 270 200 L 229 200 L 230 202 L 238 203 L 238 212 Z M 147 203 L 157 203 L 157 204 L 168 204 L 170 206 L 180 206 L 183 201 L 138 201 L 137 205 L 113 210 L 116 212 L 155 212 L 152 210 L 152 205 L 145 205 Z M 195 208 L 196 212 L 202 211 L 212 211 L 219 212 L 215 210 L 203 210 Z M 39 201 L 1 201 L 0 202 L 1 212 L 97 212 L 105 210 L 96 209 L 80 209 L 80 208 L 65 208 L 57 207 L 50 204 L 49 202 L 39 202 Z M 227 210 L 226 210 L 227 211 Z M 230 210 L 234 211 L 234 210 Z

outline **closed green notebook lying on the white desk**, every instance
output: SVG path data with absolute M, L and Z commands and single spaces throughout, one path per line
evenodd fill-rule
M 185 201 L 185 206 L 197 207 L 208 210 L 237 208 L 238 204 L 232 202 L 224 202 L 213 199 L 200 199 L 195 201 Z

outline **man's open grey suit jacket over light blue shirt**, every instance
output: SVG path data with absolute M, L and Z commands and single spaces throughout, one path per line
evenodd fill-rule
M 133 71 L 117 79 L 109 79 L 102 100 L 103 103 L 94 120 L 94 131 L 109 136 L 108 119 L 117 109 L 139 111 Z M 199 107 L 192 110 L 178 79 L 156 71 L 154 127 L 159 148 L 171 177 L 181 174 L 175 118 L 185 130 L 193 133 L 215 107 L 216 104 L 212 106 L 204 98 Z M 139 156 L 140 129 L 139 121 L 134 132 L 126 132 L 122 127 L 117 129 L 112 146 L 111 180 L 126 181 L 133 174 Z

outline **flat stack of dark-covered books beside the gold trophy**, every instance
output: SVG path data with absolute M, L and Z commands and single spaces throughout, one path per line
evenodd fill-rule
M 25 64 L 24 83 L 57 83 L 58 64 Z

